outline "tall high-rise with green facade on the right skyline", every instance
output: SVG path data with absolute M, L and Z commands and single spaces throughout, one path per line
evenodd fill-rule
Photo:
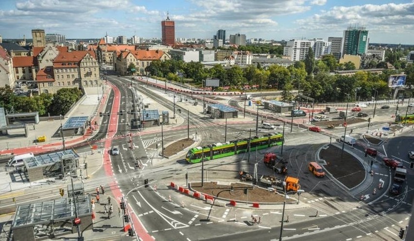
M 368 30 L 365 27 L 350 26 L 344 31 L 342 56 L 362 55 L 368 49 Z

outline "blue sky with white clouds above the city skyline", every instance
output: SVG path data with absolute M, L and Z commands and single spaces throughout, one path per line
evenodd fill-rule
M 32 38 L 32 29 L 66 38 L 212 38 L 217 30 L 267 40 L 342 37 L 364 26 L 370 43 L 414 44 L 414 0 L 0 0 L 0 35 Z

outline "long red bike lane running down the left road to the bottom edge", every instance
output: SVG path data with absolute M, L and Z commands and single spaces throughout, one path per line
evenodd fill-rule
M 121 103 L 121 93 L 119 89 L 115 86 L 110 84 L 112 89 L 114 90 L 114 102 L 111 109 L 111 116 L 109 119 L 109 126 L 107 131 L 107 138 L 104 142 L 104 170 L 107 177 L 114 176 L 112 171 L 112 163 L 111 157 L 109 155 L 109 150 L 111 149 L 112 145 L 112 138 L 114 138 L 115 134 L 117 133 L 118 129 L 118 112 L 120 111 L 120 103 Z M 115 181 L 108 183 L 110 187 L 118 187 L 118 184 Z M 118 203 L 121 202 L 121 198 L 123 194 L 119 188 L 111 189 L 113 196 L 117 199 Z M 154 239 L 147 233 L 146 229 L 138 219 L 138 216 L 133 212 L 133 216 L 131 217 L 133 220 L 134 229 L 137 232 L 137 235 L 143 241 L 154 241 Z

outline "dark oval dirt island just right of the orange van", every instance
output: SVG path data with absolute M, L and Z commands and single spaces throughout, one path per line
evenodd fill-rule
M 365 169 L 361 162 L 346 151 L 342 152 L 341 148 L 329 145 L 327 149 L 321 150 L 319 158 L 327 162 L 325 169 L 349 189 L 365 178 Z

